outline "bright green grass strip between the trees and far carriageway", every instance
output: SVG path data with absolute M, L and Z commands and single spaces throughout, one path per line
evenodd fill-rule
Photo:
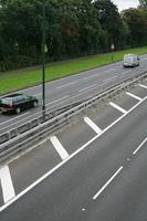
M 122 61 L 124 54 L 126 53 L 144 54 L 147 53 L 147 46 L 114 52 L 114 62 Z M 112 63 L 111 53 L 52 63 L 45 69 L 45 80 L 53 81 L 109 63 Z M 0 94 L 2 95 L 40 84 L 42 81 L 41 77 L 41 67 L 34 67 L 33 71 L 32 69 L 25 69 L 20 71 L 17 70 L 15 72 L 2 73 L 0 74 Z

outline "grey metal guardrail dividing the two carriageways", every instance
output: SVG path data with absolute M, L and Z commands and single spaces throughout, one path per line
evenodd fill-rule
M 90 97 L 85 101 L 77 102 L 46 114 L 45 120 L 42 117 L 39 117 L 0 135 L 0 164 L 9 159 L 15 152 L 35 144 L 44 136 L 60 129 L 70 123 L 75 115 L 82 113 L 82 110 L 85 110 L 99 102 L 107 101 L 107 98 L 111 98 L 127 87 L 143 81 L 145 77 L 147 77 L 147 72 L 139 73 L 137 76 L 128 78 L 120 84 L 95 95 L 94 97 Z

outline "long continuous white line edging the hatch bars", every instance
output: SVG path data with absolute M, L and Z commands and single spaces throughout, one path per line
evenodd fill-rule
M 75 157 L 77 154 L 83 151 L 88 145 L 91 145 L 93 141 L 95 141 L 98 137 L 101 137 L 103 134 L 105 134 L 108 129 L 111 129 L 114 125 L 116 125 L 118 122 L 120 122 L 123 118 L 125 118 L 130 112 L 133 112 L 135 108 L 137 108 L 143 102 L 147 99 L 147 96 L 143 98 L 143 101 L 138 102 L 134 107 L 132 107 L 126 114 L 122 115 L 119 118 L 117 118 L 115 122 L 113 122 L 109 126 L 107 126 L 101 134 L 93 137 L 91 140 L 88 140 L 85 145 L 80 147 L 76 151 L 74 151 L 72 155 L 69 156 L 65 160 L 56 165 L 53 169 L 48 171 L 45 175 L 40 177 L 38 180 L 35 180 L 32 185 L 30 185 L 27 189 L 24 189 L 22 192 L 20 192 L 18 196 L 15 196 L 13 199 L 11 199 L 9 202 L 0 207 L 0 212 L 7 209 L 10 204 L 19 200 L 21 197 L 23 197 L 27 192 L 32 190 L 35 186 L 38 186 L 40 182 L 45 180 L 50 175 L 52 175 L 54 171 L 56 171 L 59 168 L 61 168 L 63 165 L 65 165 L 67 161 L 70 161 L 73 157 Z

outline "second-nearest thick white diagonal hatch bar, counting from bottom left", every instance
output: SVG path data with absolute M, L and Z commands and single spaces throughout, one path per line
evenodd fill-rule
M 56 151 L 59 152 L 59 155 L 61 156 L 62 160 L 66 159 L 69 157 L 69 154 L 64 149 L 62 144 L 59 141 L 57 137 L 56 136 L 51 136 L 50 140 L 53 144 L 53 146 L 56 149 Z

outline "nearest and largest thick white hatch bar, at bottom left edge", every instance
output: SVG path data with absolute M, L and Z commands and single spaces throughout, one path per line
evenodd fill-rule
M 0 168 L 1 189 L 4 203 L 15 197 L 10 170 L 8 166 Z

